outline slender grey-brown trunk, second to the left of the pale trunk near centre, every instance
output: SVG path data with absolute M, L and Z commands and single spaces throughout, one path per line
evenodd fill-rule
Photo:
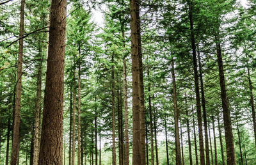
M 115 71 L 114 71 L 114 54 L 112 54 L 112 164 L 116 164 L 116 135 L 115 135 Z

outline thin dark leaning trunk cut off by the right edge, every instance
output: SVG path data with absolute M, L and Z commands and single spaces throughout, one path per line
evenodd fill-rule
M 252 81 L 251 81 L 251 75 L 250 70 L 247 67 L 248 72 L 248 81 L 249 81 L 249 88 L 250 88 L 250 104 L 252 106 L 252 120 L 253 120 L 253 132 L 254 132 L 254 139 L 255 139 L 255 146 L 256 146 L 256 119 L 255 119 L 255 107 L 254 107 L 254 99 L 253 99 L 253 92 L 252 92 Z

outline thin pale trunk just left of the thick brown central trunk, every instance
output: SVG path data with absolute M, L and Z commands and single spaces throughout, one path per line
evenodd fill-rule
M 124 35 L 123 35 L 124 37 Z M 123 77 L 124 77 L 124 127 L 125 127 L 125 150 L 124 164 L 129 164 L 129 124 L 128 124 L 128 104 L 127 104 L 127 78 L 126 78 L 126 61 L 123 59 Z

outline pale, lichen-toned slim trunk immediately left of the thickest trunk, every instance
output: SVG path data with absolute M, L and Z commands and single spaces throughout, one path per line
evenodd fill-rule
M 39 56 L 42 59 L 42 47 L 39 45 Z M 36 89 L 36 112 L 35 112 L 35 132 L 34 132 L 34 143 L 33 143 L 33 164 L 38 164 L 38 158 L 39 158 L 39 139 L 40 139 L 40 114 L 41 114 L 41 99 L 42 99 L 42 60 L 38 62 L 38 72 L 37 72 L 37 89 Z

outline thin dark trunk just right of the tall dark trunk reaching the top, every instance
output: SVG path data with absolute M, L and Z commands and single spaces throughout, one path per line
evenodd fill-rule
M 205 156 L 206 156 L 206 164 L 210 164 L 210 155 L 209 155 L 209 141 L 207 134 L 207 117 L 206 117 L 206 108 L 205 108 L 205 97 L 204 97 L 204 81 L 203 81 L 203 73 L 202 73 L 202 65 L 200 59 L 199 47 L 197 46 L 197 56 L 199 63 L 199 77 L 200 77 L 200 86 L 201 86 L 201 96 L 202 96 L 202 108 L 203 108 L 203 117 L 204 117 L 204 136 L 205 136 Z

